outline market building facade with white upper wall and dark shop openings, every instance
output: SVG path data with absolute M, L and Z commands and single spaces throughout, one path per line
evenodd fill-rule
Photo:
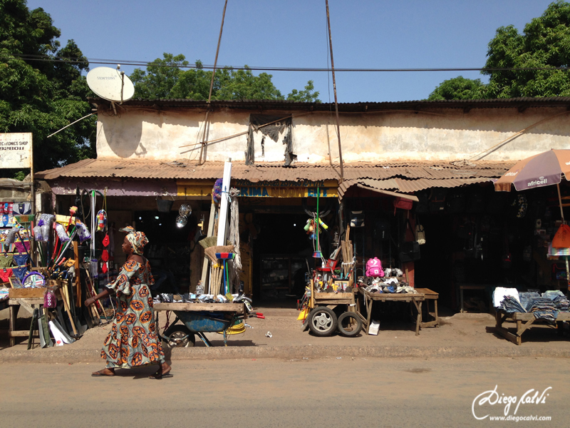
M 115 229 L 128 223 L 144 230 L 153 270 L 172 273 L 182 290 L 194 290 L 203 277 L 197 241 L 214 220 L 212 188 L 228 159 L 231 187 L 239 190 L 241 277 L 258 300 L 302 295 L 304 272 L 315 263 L 304 226 L 317 200 L 328 225 L 321 233 L 325 259 L 353 223 L 356 276 L 378 257 L 450 307 L 460 307 L 462 284 L 484 290 L 527 274 L 534 285 L 556 281 L 555 262 L 535 257 L 544 249 L 535 236 L 557 220 L 549 190 L 519 202 L 515 193 L 497 197 L 492 183 L 521 158 L 568 148 L 570 98 L 339 104 L 340 145 L 327 103 L 90 102 L 98 110 L 98 157 L 36 177 L 51 188 L 57 213 L 81 202 L 83 190 L 98 190 Z M 182 203 L 193 211 L 177 228 Z M 403 246 L 417 239 L 419 224 L 425 244 L 403 263 Z

